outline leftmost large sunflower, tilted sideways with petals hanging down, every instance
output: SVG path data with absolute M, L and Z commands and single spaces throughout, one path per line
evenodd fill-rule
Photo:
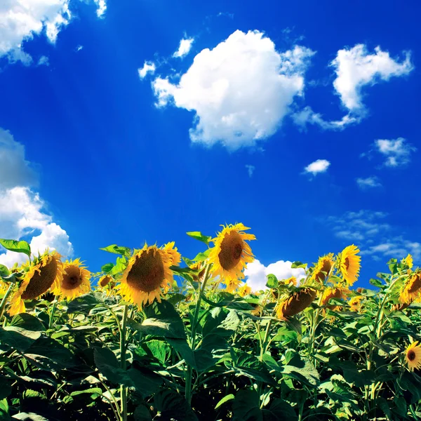
M 23 266 L 26 273 L 19 289 L 11 296 L 8 313 L 11 316 L 25 313 L 24 300 L 34 300 L 55 288 L 62 281 L 61 256 L 54 250 L 46 251 L 34 262 Z

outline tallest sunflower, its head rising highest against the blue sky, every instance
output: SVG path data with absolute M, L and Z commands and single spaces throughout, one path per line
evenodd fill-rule
M 223 227 L 223 225 L 222 225 Z M 243 269 L 246 263 L 253 262 L 254 256 L 246 240 L 255 240 L 253 234 L 246 234 L 243 224 L 227 225 L 222 232 L 213 239 L 214 247 L 210 249 L 209 262 L 212 263 L 210 272 L 213 276 L 220 276 L 232 292 L 244 278 Z

